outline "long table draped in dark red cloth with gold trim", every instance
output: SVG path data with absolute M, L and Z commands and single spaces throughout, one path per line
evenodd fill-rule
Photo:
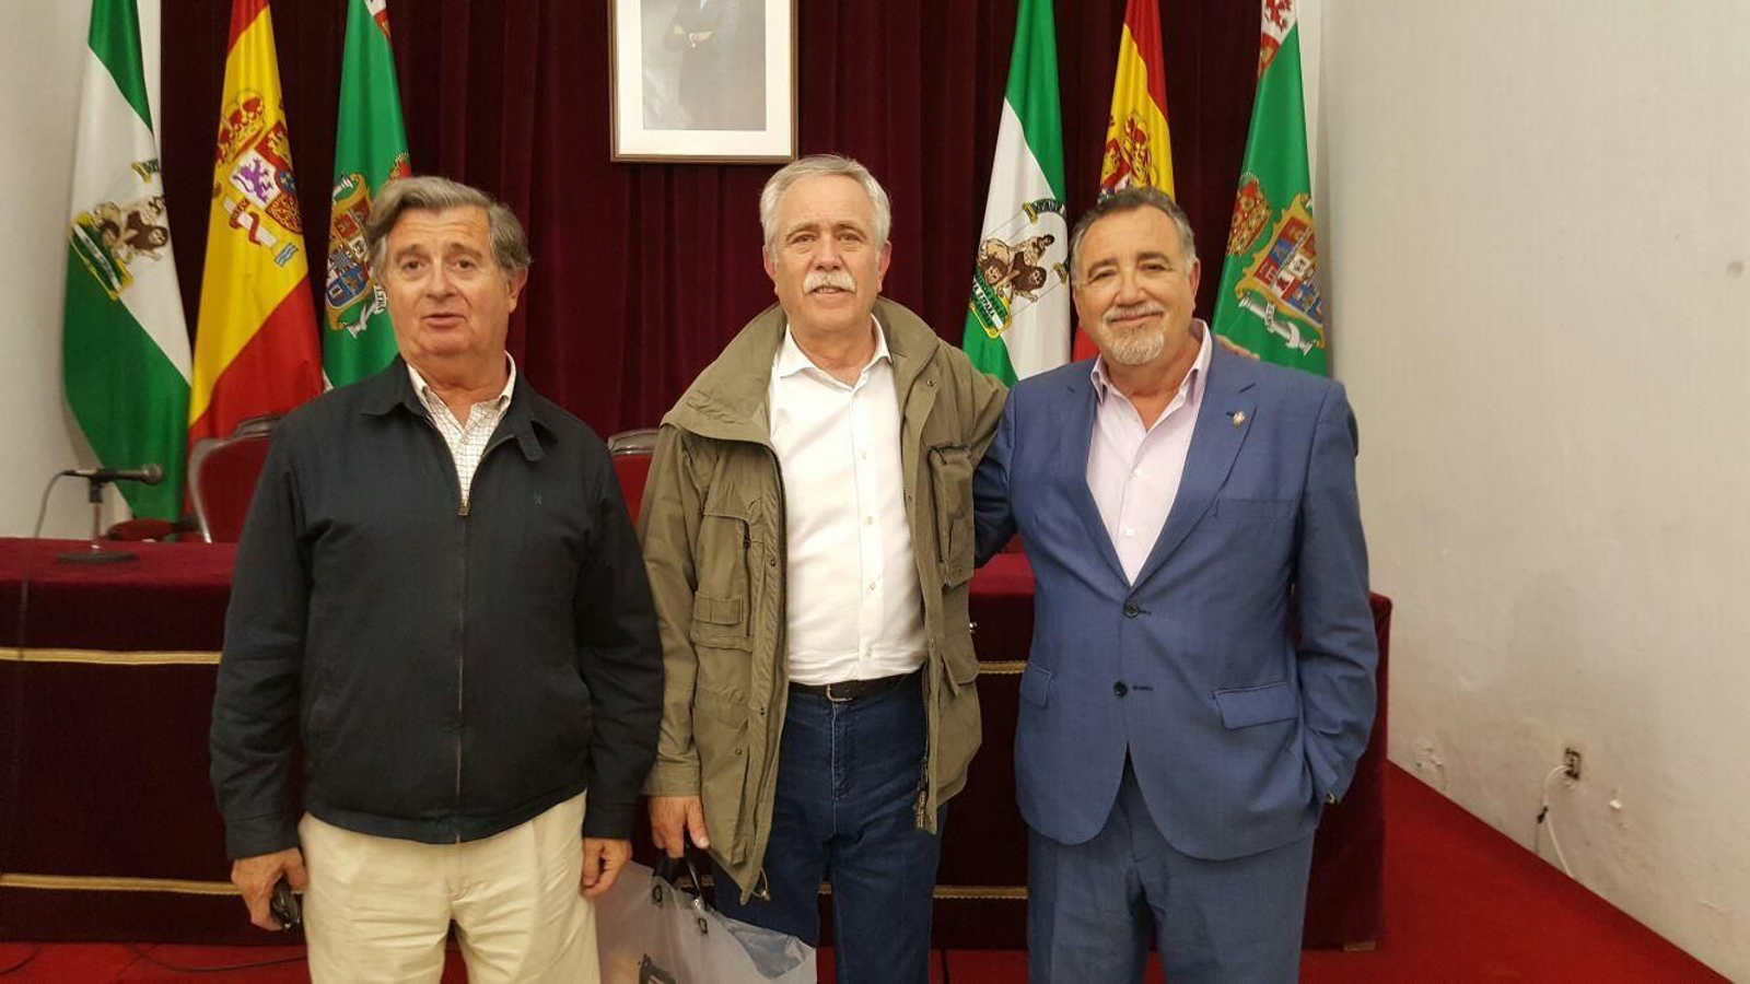
M 0 539 L 0 938 L 285 942 L 248 926 L 226 881 L 206 781 L 233 548 L 140 543 L 126 545 L 133 562 L 56 562 L 80 546 Z M 973 578 L 971 616 L 984 749 L 948 807 L 934 935 L 1020 949 L 1027 851 L 1012 749 L 1032 637 L 1026 555 L 999 555 Z M 1390 623 L 1391 602 L 1376 595 L 1381 718 L 1318 832 L 1307 945 L 1382 935 Z M 648 833 L 637 837 L 648 856 Z

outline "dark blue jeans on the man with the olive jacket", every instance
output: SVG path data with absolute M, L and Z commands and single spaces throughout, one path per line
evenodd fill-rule
M 766 844 L 770 900 L 746 905 L 716 868 L 718 909 L 816 945 L 819 888 L 833 886 L 842 984 L 928 982 L 929 914 L 942 839 L 917 826 L 924 765 L 920 679 L 835 704 L 789 695 Z M 936 814 L 938 830 L 943 814 Z

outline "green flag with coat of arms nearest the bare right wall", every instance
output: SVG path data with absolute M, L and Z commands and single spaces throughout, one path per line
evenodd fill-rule
M 1267 362 L 1325 373 L 1325 299 L 1312 273 L 1312 177 L 1295 0 L 1264 0 L 1258 96 L 1234 200 L 1214 331 Z

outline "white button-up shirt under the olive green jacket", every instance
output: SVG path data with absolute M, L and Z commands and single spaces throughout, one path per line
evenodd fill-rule
M 905 518 L 900 397 L 887 338 L 854 385 L 796 347 L 772 361 L 772 448 L 784 473 L 789 679 L 842 683 L 924 664 L 924 609 Z

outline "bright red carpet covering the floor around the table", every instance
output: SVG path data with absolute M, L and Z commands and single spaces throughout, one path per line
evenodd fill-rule
M 1374 952 L 1309 951 L 1307 984 L 1374 980 L 1726 980 L 1606 902 L 1570 882 L 1396 767 L 1386 770 L 1386 938 Z M 242 907 L 238 907 L 242 917 Z M 7 980 L 303 980 L 298 949 L 121 944 L 0 944 Z M 32 956 L 35 954 L 35 956 Z M 290 959 L 275 966 L 194 968 Z M 821 980 L 831 980 L 822 954 Z M 173 966 L 164 966 L 173 965 Z M 938 959 L 940 965 L 940 959 Z M 1026 954 L 952 951 L 952 984 L 1026 979 Z M 178 970 L 182 968 L 182 970 Z M 452 954 L 446 982 L 466 980 Z M 1152 970 L 1148 980 L 1158 982 Z

